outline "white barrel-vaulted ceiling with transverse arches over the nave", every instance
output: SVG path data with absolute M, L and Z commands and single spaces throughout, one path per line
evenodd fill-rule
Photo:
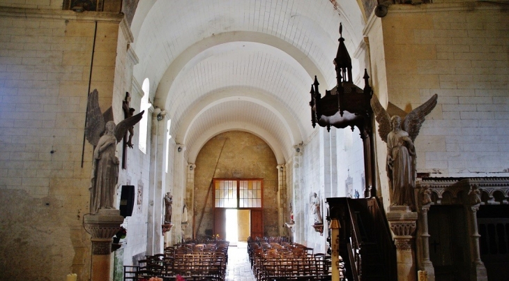
M 149 78 L 188 162 L 211 137 L 243 130 L 283 163 L 314 131 L 314 75 L 322 94 L 335 86 L 340 22 L 353 53 L 365 24 L 354 0 L 140 0 L 134 76 Z

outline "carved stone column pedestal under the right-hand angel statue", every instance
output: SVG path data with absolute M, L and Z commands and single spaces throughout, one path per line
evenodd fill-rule
M 390 206 L 387 220 L 395 239 L 397 280 L 416 281 L 416 249 L 413 231 L 416 231 L 417 213 L 412 212 L 408 206 Z

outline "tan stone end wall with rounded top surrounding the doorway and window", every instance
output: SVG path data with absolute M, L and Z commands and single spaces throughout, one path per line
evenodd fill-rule
M 220 151 L 224 144 L 224 149 Z M 220 156 L 220 157 L 219 157 Z M 219 161 L 218 161 L 219 158 Z M 214 174 L 214 168 L 218 167 Z M 194 213 L 196 225 L 202 213 L 208 186 L 213 177 L 220 179 L 264 179 L 264 235 L 278 236 L 278 162 L 271 148 L 248 132 L 223 132 L 210 139 L 199 152 L 195 167 Z M 213 229 L 213 195 L 206 203 L 197 236 Z M 191 218 L 190 218 L 191 219 Z

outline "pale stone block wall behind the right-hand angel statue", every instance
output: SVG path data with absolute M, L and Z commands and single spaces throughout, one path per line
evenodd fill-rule
M 365 29 L 382 105 L 409 112 L 439 95 L 416 139 L 418 173 L 508 174 L 508 22 L 508 13 L 491 4 L 393 5 Z M 385 147 L 378 138 L 387 190 Z

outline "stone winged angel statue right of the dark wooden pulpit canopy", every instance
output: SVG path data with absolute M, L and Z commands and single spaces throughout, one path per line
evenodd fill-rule
M 379 123 L 378 132 L 387 143 L 387 176 L 390 182 L 392 197 L 390 206 L 409 206 L 414 208 L 413 188 L 416 181 L 416 148 L 413 144 L 419 134 L 425 116 L 430 114 L 436 105 L 438 96 L 434 94 L 407 116 L 389 116 L 377 96 L 371 99 L 371 107 Z

